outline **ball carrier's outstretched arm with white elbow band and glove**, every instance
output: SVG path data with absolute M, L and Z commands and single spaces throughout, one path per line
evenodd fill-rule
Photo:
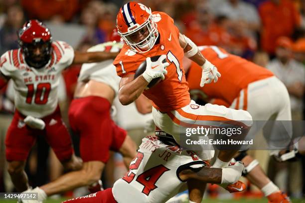
M 216 83 L 221 75 L 217 71 L 217 68 L 202 56 L 197 45 L 181 33 L 179 35 L 179 43 L 183 48 L 184 56 L 191 59 L 202 68 L 200 87 L 203 87 L 204 84 L 211 83 L 212 81 Z

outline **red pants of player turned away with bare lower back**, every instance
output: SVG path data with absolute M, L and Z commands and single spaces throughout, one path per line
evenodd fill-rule
M 84 162 L 107 163 L 109 150 L 119 151 L 127 132 L 110 117 L 111 104 L 102 97 L 74 99 L 69 108 L 71 128 L 80 135 L 80 155 Z

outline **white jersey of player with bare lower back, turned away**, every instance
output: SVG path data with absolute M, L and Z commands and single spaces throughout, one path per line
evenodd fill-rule
M 98 44 L 88 49 L 88 52 L 109 51 L 119 52 L 123 47 L 122 43 L 106 42 Z M 117 75 L 116 67 L 112 64 L 113 60 L 106 60 L 99 63 L 83 64 L 79 73 L 78 82 L 94 80 L 109 85 L 118 94 L 121 78 Z

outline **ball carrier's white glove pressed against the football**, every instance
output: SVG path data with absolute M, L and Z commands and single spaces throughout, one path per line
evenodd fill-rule
M 166 55 L 161 55 L 157 61 L 152 62 L 150 57 L 146 58 L 146 70 L 142 74 L 147 82 L 151 82 L 154 78 L 161 78 L 164 80 L 164 75 L 167 74 L 165 68 L 169 66 L 168 62 L 163 63 L 162 61 L 166 59 Z

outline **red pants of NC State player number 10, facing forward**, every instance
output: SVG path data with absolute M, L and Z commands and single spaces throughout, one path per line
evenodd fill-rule
M 61 120 L 60 109 L 41 118 L 43 130 L 32 129 L 23 123 L 25 118 L 17 109 L 6 133 L 5 151 L 7 161 L 25 161 L 37 136 L 44 136 L 60 161 L 69 160 L 73 154 L 71 137 Z

